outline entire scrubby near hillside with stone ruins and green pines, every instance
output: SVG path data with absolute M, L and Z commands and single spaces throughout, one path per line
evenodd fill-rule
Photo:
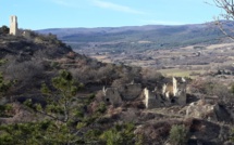
M 0 34 L 0 144 L 232 144 L 233 76 L 164 77 L 30 35 Z

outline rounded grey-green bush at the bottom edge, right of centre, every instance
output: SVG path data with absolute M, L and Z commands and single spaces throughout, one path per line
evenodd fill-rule
M 169 142 L 172 145 L 185 145 L 188 141 L 188 129 L 184 124 L 172 126 Z

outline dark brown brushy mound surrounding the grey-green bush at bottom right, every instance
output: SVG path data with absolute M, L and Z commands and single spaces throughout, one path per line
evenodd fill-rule
M 170 130 L 177 124 L 184 124 L 189 131 L 186 145 L 223 145 L 231 135 L 229 126 L 194 118 L 157 120 L 138 126 L 135 133 L 144 136 L 145 144 L 170 145 L 168 142 Z

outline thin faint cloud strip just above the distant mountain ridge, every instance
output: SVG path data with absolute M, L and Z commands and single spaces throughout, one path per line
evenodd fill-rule
M 144 24 L 156 24 L 156 25 L 183 25 L 183 22 L 173 22 L 173 21 L 158 21 L 158 19 L 140 19 Z

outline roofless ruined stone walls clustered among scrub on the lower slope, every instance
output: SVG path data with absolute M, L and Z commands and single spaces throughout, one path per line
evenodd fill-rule
M 163 84 L 162 90 L 149 91 L 141 89 L 139 83 L 131 83 L 119 88 L 103 88 L 104 101 L 114 106 L 124 101 L 134 101 L 144 95 L 146 108 L 158 108 L 171 105 L 186 105 L 186 80 L 173 77 L 170 82 Z

